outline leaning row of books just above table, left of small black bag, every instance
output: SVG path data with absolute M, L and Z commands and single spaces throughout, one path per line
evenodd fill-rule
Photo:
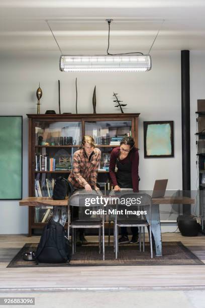
M 55 180 L 45 179 L 44 181 L 35 180 L 35 196 L 36 197 L 52 197 Z

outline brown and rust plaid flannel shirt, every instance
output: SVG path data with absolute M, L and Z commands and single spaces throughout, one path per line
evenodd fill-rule
M 86 184 L 89 184 L 92 189 L 96 189 L 100 157 L 101 151 L 98 148 L 93 149 L 90 161 L 83 148 L 74 152 L 73 169 L 68 177 L 68 181 L 75 189 L 84 188 Z

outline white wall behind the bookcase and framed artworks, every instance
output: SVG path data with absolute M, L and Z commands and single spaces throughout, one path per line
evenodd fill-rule
M 200 56 L 204 57 L 202 54 Z M 194 52 L 191 60 L 197 63 L 197 57 Z M 117 112 L 113 103 L 113 91 L 119 93 L 121 99 L 128 104 L 125 112 L 141 113 L 138 145 L 140 189 L 151 190 L 156 178 L 168 178 L 168 189 L 181 189 L 180 51 L 153 52 L 152 70 L 144 73 L 65 73 L 60 72 L 58 63 L 59 53 L 52 52 L 0 55 L 0 113 L 24 116 L 23 197 L 28 196 L 26 114 L 36 113 L 38 83 L 40 82 L 43 91 L 41 113 L 45 113 L 47 109 L 58 112 L 58 79 L 61 81 L 61 112 L 75 113 L 75 77 L 78 80 L 78 113 L 92 113 L 92 94 L 95 85 L 97 113 Z M 200 67 L 198 69 L 200 70 Z M 192 67 L 192 70 L 195 76 L 197 68 Z M 196 84 L 193 76 L 191 81 Z M 199 87 L 204 88 L 202 84 L 195 85 L 194 94 L 191 95 L 191 102 L 194 104 L 196 98 L 203 97 L 203 93 L 200 92 L 197 96 Z M 143 121 L 154 120 L 174 121 L 174 158 L 144 159 Z M 193 134 L 191 136 L 193 137 Z M 194 178 L 193 169 L 192 166 Z M 0 201 L 0 207 L 0 234 L 28 233 L 27 208 L 19 207 L 18 201 Z

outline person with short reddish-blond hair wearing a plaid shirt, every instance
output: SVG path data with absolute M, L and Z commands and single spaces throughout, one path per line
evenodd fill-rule
M 86 191 L 92 189 L 98 190 L 97 171 L 99 168 L 101 158 L 101 151 L 94 147 L 94 139 L 92 136 L 84 136 L 82 139 L 81 148 L 74 152 L 73 155 L 73 169 L 68 177 L 71 188 L 71 194 L 80 188 Z M 78 208 L 73 208 L 73 217 L 78 217 Z M 84 230 L 79 230 L 79 239 L 76 245 L 87 244 L 84 238 Z

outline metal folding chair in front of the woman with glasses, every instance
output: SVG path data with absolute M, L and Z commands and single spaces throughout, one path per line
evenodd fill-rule
M 127 198 L 140 198 L 141 203 L 138 205 L 132 205 L 132 210 L 133 208 L 135 210 L 144 210 L 147 209 L 147 214 L 146 218 L 144 215 L 140 215 L 141 219 L 132 219 L 128 220 L 129 216 L 123 217 L 123 219 L 119 219 L 119 214 L 116 212 L 115 214 L 115 222 L 114 222 L 114 252 L 116 254 L 116 259 L 118 258 L 118 251 L 119 251 L 119 243 L 118 243 L 118 233 L 119 233 L 119 227 L 128 227 L 128 226 L 138 226 L 139 227 L 139 246 L 140 246 L 140 252 L 141 252 L 141 237 L 143 233 L 143 252 L 145 251 L 145 226 L 148 228 L 149 232 L 149 241 L 150 241 L 150 250 L 151 250 L 151 259 L 153 258 L 153 248 L 152 248 L 152 227 L 151 227 L 151 205 L 152 205 L 152 198 L 150 195 L 145 194 L 145 193 L 134 193 L 132 189 L 122 189 L 120 192 L 115 192 L 114 190 L 110 192 L 110 196 L 116 196 L 119 197 L 120 202 L 119 204 L 116 204 L 116 210 L 119 209 L 119 206 L 121 209 L 127 209 L 129 210 L 129 206 L 122 206 L 122 198 L 126 199 Z M 142 219 L 144 218 L 144 219 Z M 142 232 L 143 230 L 143 232 Z

